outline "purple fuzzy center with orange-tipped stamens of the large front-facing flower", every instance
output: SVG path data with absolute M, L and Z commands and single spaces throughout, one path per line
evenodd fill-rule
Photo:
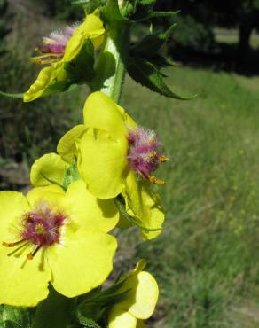
M 22 215 L 20 240 L 14 243 L 4 242 L 3 245 L 18 246 L 17 250 L 28 244 L 33 245 L 33 252 L 27 254 L 27 258 L 31 260 L 41 247 L 59 243 L 60 230 L 65 221 L 66 215 L 53 210 L 46 202 L 40 203 L 33 211 Z

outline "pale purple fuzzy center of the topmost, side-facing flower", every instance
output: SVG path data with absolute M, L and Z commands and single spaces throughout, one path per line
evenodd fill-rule
M 40 56 L 33 58 L 36 64 L 51 64 L 63 58 L 67 42 L 74 34 L 75 29 L 80 23 L 75 23 L 71 27 L 67 26 L 64 29 L 54 31 L 50 35 L 43 37 L 43 46 L 36 51 Z

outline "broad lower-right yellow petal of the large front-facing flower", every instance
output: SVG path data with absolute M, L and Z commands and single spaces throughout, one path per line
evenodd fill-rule
M 75 297 L 102 285 L 113 269 L 116 247 L 116 239 L 102 231 L 67 226 L 60 245 L 46 250 L 53 287 Z

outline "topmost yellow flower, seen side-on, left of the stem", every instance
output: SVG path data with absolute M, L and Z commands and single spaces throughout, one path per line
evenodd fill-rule
M 65 31 L 53 32 L 43 38 L 42 55 L 34 59 L 38 64 L 50 64 L 44 67 L 29 90 L 24 93 L 24 102 L 29 102 L 50 92 L 53 84 L 59 83 L 60 89 L 67 88 L 66 63 L 71 62 L 82 50 L 87 39 L 97 49 L 103 41 L 105 29 L 98 12 L 87 15 L 81 25 L 67 27 Z

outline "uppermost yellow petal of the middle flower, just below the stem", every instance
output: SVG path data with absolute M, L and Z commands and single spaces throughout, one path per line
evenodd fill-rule
M 99 91 L 87 98 L 83 107 L 83 120 L 87 127 L 104 129 L 114 135 L 126 137 L 128 133 L 123 108 Z

